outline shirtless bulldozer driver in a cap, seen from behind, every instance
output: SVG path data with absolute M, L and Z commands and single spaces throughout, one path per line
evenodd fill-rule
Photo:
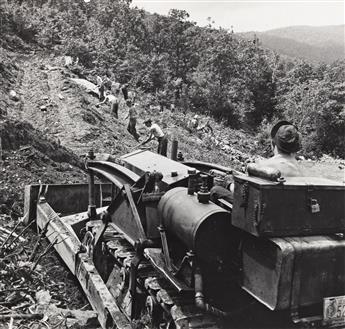
M 279 121 L 271 130 L 271 147 L 273 157 L 259 161 L 258 168 L 279 170 L 282 177 L 303 176 L 296 160 L 296 152 L 300 149 L 300 135 L 297 128 L 289 121 Z M 211 200 L 217 202 L 224 199 L 233 202 L 234 184 L 227 188 L 214 186 L 211 189 Z

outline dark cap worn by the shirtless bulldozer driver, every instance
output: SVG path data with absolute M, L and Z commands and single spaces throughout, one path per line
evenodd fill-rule
M 271 130 L 271 137 L 280 151 L 295 153 L 300 149 L 298 129 L 289 121 L 277 122 Z

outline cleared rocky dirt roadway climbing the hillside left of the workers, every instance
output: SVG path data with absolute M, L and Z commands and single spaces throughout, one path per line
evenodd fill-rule
M 91 147 L 117 153 L 135 145 L 124 120 L 115 119 L 107 105 L 96 108 L 98 99 L 71 82 L 72 74 L 62 66 L 61 58 L 26 55 L 18 58 L 18 64 L 21 105 L 10 108 L 9 117 L 30 122 L 79 155 Z M 120 109 L 120 116 L 124 112 Z

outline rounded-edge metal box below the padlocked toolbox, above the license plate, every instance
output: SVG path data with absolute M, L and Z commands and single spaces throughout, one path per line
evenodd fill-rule
M 345 294 L 345 240 L 312 236 L 245 240 L 243 288 L 272 310 Z

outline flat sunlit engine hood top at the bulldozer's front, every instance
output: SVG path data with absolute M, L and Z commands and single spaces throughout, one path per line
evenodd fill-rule
M 188 170 L 193 169 L 167 157 L 150 151 L 134 151 L 121 157 L 124 166 L 139 176 L 146 172 L 159 171 L 163 174 L 162 182 L 171 185 L 188 177 Z M 177 176 L 172 177 L 171 173 Z

